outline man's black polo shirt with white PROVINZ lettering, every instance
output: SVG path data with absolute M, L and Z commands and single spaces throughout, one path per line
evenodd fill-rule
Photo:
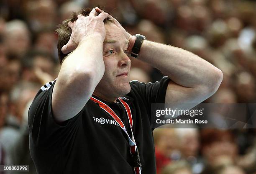
M 134 174 L 127 135 L 92 100 L 63 124 L 54 121 L 51 96 L 55 82 L 41 87 L 28 112 L 30 153 L 37 173 Z M 168 82 L 168 77 L 148 84 L 132 81 L 131 92 L 122 97 L 131 108 L 142 174 L 156 173 L 151 103 L 164 103 Z M 131 135 L 123 105 L 118 100 L 110 103 L 93 97 L 111 107 Z

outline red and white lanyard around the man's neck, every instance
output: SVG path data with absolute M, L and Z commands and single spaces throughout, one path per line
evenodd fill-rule
M 90 99 L 92 101 L 94 101 L 95 103 L 97 103 L 103 110 L 105 110 L 118 123 L 120 128 L 122 128 L 122 130 L 127 134 L 128 139 L 129 139 L 130 152 L 131 152 L 131 156 L 132 156 L 134 171 L 136 174 L 141 174 L 141 163 L 140 163 L 140 158 L 139 158 L 139 154 L 138 154 L 138 148 L 136 146 L 136 142 L 135 142 L 135 139 L 133 136 L 133 129 L 132 129 L 133 128 L 133 118 L 132 118 L 131 109 L 130 109 L 129 105 L 122 99 L 118 98 L 120 100 L 120 102 L 123 104 L 123 106 L 125 107 L 125 110 L 126 110 L 126 113 L 128 116 L 131 133 L 132 133 L 131 138 L 130 138 L 122 120 L 118 117 L 118 115 L 108 105 L 106 105 L 104 102 L 101 102 L 100 100 L 97 100 L 94 97 L 91 97 Z

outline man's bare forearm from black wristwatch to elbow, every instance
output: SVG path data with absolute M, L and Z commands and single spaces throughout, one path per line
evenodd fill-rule
M 156 67 L 184 87 L 211 86 L 221 82 L 222 72 L 218 68 L 199 56 L 174 46 L 145 40 L 138 59 Z

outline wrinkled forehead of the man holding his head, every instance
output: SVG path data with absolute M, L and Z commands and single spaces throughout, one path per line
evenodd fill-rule
M 120 30 L 120 28 L 115 26 L 115 24 L 108 23 L 107 25 L 105 25 L 105 29 L 106 29 L 106 36 L 104 41 L 105 44 L 114 43 L 114 42 L 121 44 L 123 42 L 126 43 L 128 41 L 123 35 L 123 32 Z

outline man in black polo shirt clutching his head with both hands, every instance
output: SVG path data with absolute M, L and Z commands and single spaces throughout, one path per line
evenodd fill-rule
M 154 174 L 151 103 L 200 103 L 222 81 L 207 61 L 131 36 L 99 8 L 82 10 L 57 33 L 59 76 L 41 87 L 29 110 L 39 174 Z M 131 55 L 172 80 L 129 83 Z

